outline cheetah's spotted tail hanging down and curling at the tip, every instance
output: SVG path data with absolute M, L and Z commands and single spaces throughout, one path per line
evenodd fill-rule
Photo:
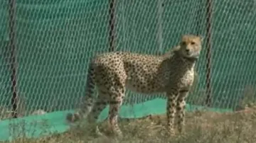
M 87 81 L 86 81 L 86 91 L 85 96 L 82 99 L 82 104 L 80 105 L 80 109 L 78 112 L 72 114 L 68 113 L 66 119 L 69 122 L 75 122 L 77 120 L 80 120 L 81 118 L 86 118 L 87 115 L 92 110 L 93 103 L 95 102 L 95 98 L 93 96 L 94 88 L 95 88 L 95 81 L 94 81 L 94 69 L 92 68 L 92 65 L 89 65 L 88 71 L 87 71 Z

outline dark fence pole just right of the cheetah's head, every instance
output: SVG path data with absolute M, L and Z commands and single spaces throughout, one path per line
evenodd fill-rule
M 213 1 L 207 0 L 206 2 L 206 105 L 211 105 L 211 23 L 212 23 L 212 11 Z

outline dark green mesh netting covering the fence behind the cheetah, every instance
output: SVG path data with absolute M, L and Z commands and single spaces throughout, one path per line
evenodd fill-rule
M 11 111 L 11 50 L 8 1 L 0 1 L 0 6 L 0 106 L 4 120 Z M 174 47 L 184 33 L 206 37 L 206 6 L 203 0 L 119 0 L 115 8 L 115 50 L 159 54 Z M 16 1 L 19 115 L 31 115 L 41 109 L 50 113 L 46 115 L 49 122 L 55 122 L 65 110 L 77 108 L 85 93 L 90 57 L 109 50 L 109 7 L 105 0 Z M 213 108 L 235 110 L 245 96 L 255 97 L 255 9 L 251 0 L 213 2 Z M 206 101 L 206 50 L 197 71 L 198 84 L 188 97 L 189 105 L 203 105 Z M 164 107 L 164 102 L 157 103 L 157 98 L 164 100 L 163 95 L 129 91 L 127 95 L 124 105 L 137 105 L 140 109 L 132 108 L 131 115 L 121 113 L 123 117 L 146 115 L 154 113 L 149 109 Z M 155 103 L 144 106 L 146 101 Z M 164 108 L 159 113 L 164 113 Z M 9 122 L 0 122 L 3 127 L 6 124 Z

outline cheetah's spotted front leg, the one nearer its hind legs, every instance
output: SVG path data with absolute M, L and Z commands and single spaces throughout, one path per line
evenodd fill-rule
M 174 115 L 176 113 L 176 101 L 178 97 L 178 91 L 173 88 L 167 92 L 167 105 L 166 105 L 166 116 L 167 116 L 167 132 L 170 135 L 174 135 Z

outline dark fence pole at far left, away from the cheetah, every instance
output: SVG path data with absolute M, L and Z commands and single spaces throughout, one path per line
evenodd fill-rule
M 9 46 L 11 49 L 11 105 L 12 105 L 12 117 L 17 118 L 17 90 L 16 90 L 16 29 L 15 29 L 15 13 L 16 13 L 16 0 L 9 0 Z

